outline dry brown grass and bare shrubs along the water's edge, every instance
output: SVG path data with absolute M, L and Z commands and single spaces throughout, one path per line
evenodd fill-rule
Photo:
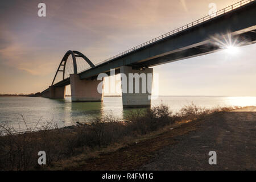
M 3 125 L 0 126 L 0 134 L 5 133 L 0 137 L 0 169 L 43 170 L 53 164 L 56 169 L 63 169 L 67 162 L 76 165 L 82 159 L 93 158 L 97 155 L 96 151 L 101 151 L 102 148 L 105 148 L 105 151 L 113 151 L 123 147 L 125 143 L 142 140 L 143 137 L 150 137 L 152 133 L 157 134 L 177 122 L 203 118 L 232 109 L 218 107 L 209 110 L 191 104 L 183 107 L 180 113 L 172 114 L 168 106 L 160 105 L 151 109 L 131 111 L 124 121 L 109 116 L 96 118 L 90 125 L 69 129 L 56 129 L 52 123 L 47 123 L 38 132 L 32 132 L 35 127 L 27 128 L 26 133 Z M 38 152 L 42 150 L 46 152 L 46 166 L 38 164 Z M 64 159 L 65 162 L 61 163 L 60 160 Z M 56 162 L 60 162 L 62 167 L 58 168 Z

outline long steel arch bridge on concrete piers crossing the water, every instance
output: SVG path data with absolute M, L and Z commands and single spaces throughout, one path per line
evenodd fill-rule
M 101 102 L 103 94 L 97 92 L 101 82 L 97 76 L 100 73 L 110 75 L 110 69 L 115 69 L 115 74 L 148 74 L 153 73 L 149 67 L 155 65 L 213 53 L 232 44 L 245 46 L 255 42 L 256 2 L 243 0 L 96 65 L 81 52 L 68 51 L 57 68 L 51 86 L 42 92 L 42 96 L 64 98 L 65 86 L 70 84 L 72 102 Z M 78 71 L 81 64 L 77 63 L 79 58 L 81 63 L 88 65 L 87 69 Z M 57 75 L 61 75 L 59 82 L 56 82 Z M 150 106 L 150 95 L 151 92 L 122 93 L 123 107 Z

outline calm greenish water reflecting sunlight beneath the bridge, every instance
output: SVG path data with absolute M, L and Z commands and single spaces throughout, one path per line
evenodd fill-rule
M 206 97 L 206 96 L 159 96 L 151 105 L 167 104 L 176 112 L 184 105 L 194 104 L 202 107 L 216 106 L 256 106 L 256 97 Z M 130 109 L 122 109 L 121 97 L 104 97 L 103 102 L 72 103 L 71 97 L 65 100 L 50 100 L 41 97 L 0 97 L 0 125 L 6 123 L 16 129 L 34 128 L 38 120 L 57 123 L 58 127 L 74 125 L 76 122 L 90 122 L 95 117 L 114 115 L 122 118 Z M 20 123 L 18 125 L 18 122 Z

